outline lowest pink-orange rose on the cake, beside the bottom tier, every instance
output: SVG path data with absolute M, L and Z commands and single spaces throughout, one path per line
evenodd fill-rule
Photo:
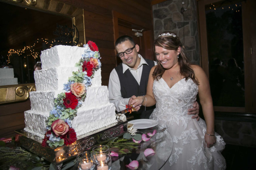
M 66 134 L 69 130 L 69 126 L 68 124 L 66 124 L 63 120 L 61 119 L 58 119 L 56 121 L 54 121 L 52 123 L 52 126 L 51 126 L 53 132 L 59 136 L 59 135 L 63 135 L 63 134 Z

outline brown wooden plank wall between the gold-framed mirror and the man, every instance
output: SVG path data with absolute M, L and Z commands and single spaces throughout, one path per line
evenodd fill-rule
M 95 42 L 101 54 L 102 85 L 108 85 L 109 74 L 116 66 L 112 11 L 124 14 L 134 21 L 147 23 L 152 30 L 150 0 L 59 0 L 84 9 L 85 40 Z

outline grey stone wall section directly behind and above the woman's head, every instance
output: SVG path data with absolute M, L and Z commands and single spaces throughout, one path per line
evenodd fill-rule
M 180 12 L 182 0 L 166 0 L 152 6 L 154 36 L 156 38 L 163 31 L 175 32 L 185 46 L 186 56 L 190 62 L 199 65 L 200 44 L 197 27 L 196 0 L 186 0 L 185 3 L 188 4 L 183 5 L 187 9 L 184 12 L 184 16 Z

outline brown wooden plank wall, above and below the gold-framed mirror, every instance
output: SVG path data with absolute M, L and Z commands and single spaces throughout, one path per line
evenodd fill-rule
M 101 54 L 102 85 L 108 85 L 109 74 L 116 66 L 113 10 L 143 23 L 153 35 L 150 0 L 59 0 L 84 9 L 85 40 L 95 42 Z M 78 26 L 80 27 L 80 26 Z M 30 101 L 0 105 L 0 138 L 14 135 L 13 130 L 22 129 L 24 111 L 30 109 Z

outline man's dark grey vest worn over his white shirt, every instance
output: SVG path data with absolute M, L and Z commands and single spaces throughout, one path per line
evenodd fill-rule
M 155 65 L 154 61 L 145 59 L 147 64 L 143 64 L 142 74 L 140 78 L 140 85 L 133 77 L 129 69 L 123 73 L 123 65 L 120 63 L 115 69 L 119 77 L 121 86 L 121 95 L 123 98 L 130 98 L 132 95 L 143 96 L 147 92 L 148 76 L 151 68 Z M 155 106 L 145 107 L 141 106 L 138 112 L 133 112 L 135 119 L 148 119 L 153 112 Z

